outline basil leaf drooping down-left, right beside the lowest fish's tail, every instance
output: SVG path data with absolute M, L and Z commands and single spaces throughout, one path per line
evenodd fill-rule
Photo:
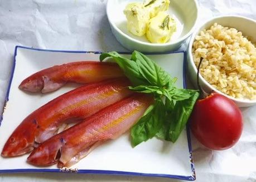
M 160 98 L 156 99 L 151 110 L 147 110 L 147 114 L 133 125 L 131 130 L 133 147 L 151 139 L 160 130 L 165 121 L 165 109 L 162 109 L 164 106 Z

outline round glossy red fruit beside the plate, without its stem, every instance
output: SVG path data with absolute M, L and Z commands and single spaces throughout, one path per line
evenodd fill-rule
M 197 100 L 191 114 L 191 130 L 207 148 L 225 150 L 233 146 L 243 130 L 240 109 L 229 98 L 211 93 Z

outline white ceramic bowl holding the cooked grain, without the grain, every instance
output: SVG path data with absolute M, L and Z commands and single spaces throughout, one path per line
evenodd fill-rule
M 220 17 L 212 18 L 206 23 L 202 24 L 192 34 L 192 37 L 189 43 L 189 48 L 187 50 L 187 72 L 191 82 L 194 85 L 196 85 L 197 68 L 192 57 L 192 44 L 194 43 L 195 37 L 199 34 L 200 31 L 202 31 L 203 29 L 209 29 L 214 23 L 221 24 L 224 27 L 236 28 L 238 29 L 238 31 L 241 31 L 243 33 L 243 36 L 250 37 L 250 41 L 254 43 L 256 42 L 256 37 L 255 37 L 256 21 L 254 21 L 253 19 L 249 19 L 241 16 L 220 16 Z M 210 85 L 204 78 L 202 78 L 201 75 L 199 76 L 199 80 L 200 80 L 201 87 L 204 88 L 207 92 L 211 92 L 211 90 L 214 90 L 215 92 L 225 95 L 226 97 L 232 99 L 239 107 L 249 107 L 251 105 L 256 104 L 256 100 L 236 99 L 220 92 L 219 90 L 212 87 L 212 85 Z

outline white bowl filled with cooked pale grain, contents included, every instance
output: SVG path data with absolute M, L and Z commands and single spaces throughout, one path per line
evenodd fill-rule
M 241 16 L 215 17 L 202 24 L 192 34 L 187 50 L 192 83 L 196 86 L 197 65 L 203 57 L 202 88 L 225 95 L 239 107 L 256 105 L 255 32 L 256 21 Z

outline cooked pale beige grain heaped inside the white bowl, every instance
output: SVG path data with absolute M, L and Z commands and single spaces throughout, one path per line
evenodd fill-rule
M 256 48 L 235 28 L 214 23 L 192 46 L 200 74 L 213 87 L 238 99 L 256 99 Z

